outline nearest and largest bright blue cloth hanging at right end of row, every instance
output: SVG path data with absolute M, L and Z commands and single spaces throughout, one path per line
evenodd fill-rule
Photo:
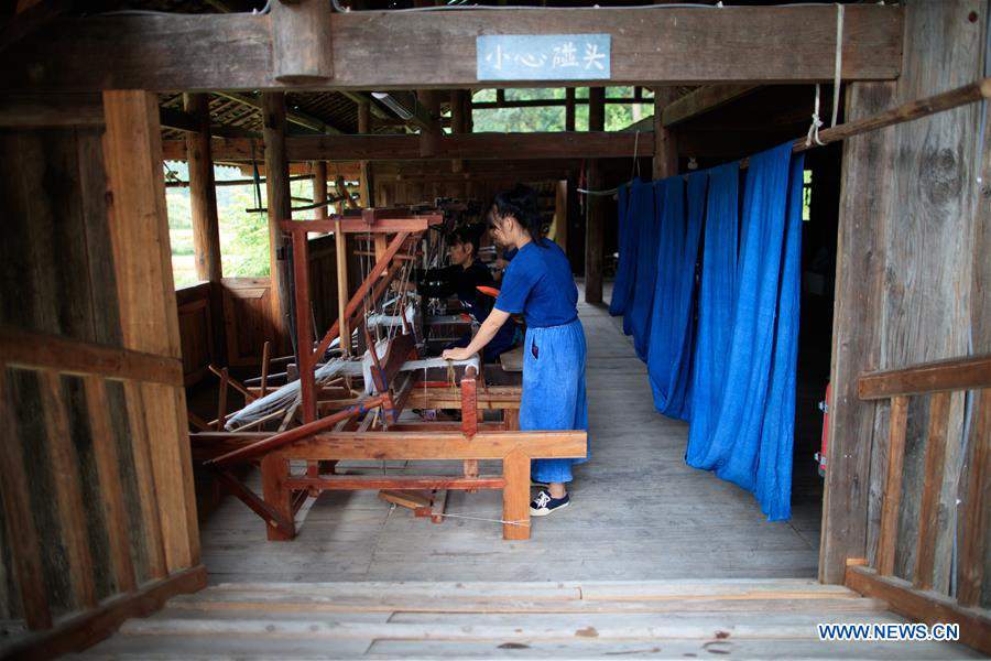
M 697 395 L 714 418 L 693 465 L 752 491 L 772 521 L 791 517 L 803 163 L 791 143 L 750 159 L 723 378 Z

